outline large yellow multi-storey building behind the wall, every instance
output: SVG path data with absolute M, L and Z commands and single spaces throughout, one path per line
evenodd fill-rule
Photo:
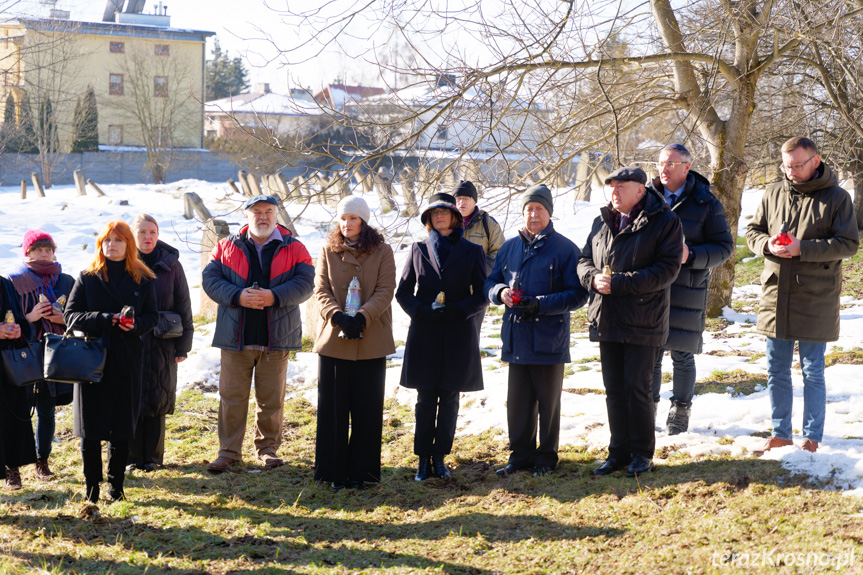
M 145 14 L 117 14 L 117 22 L 18 19 L 0 32 L 0 110 L 11 93 L 20 117 L 26 96 L 35 122 L 49 99 L 57 151 L 69 151 L 75 105 L 88 85 L 100 145 L 203 146 L 206 39 L 213 32 L 171 28 L 168 16 Z

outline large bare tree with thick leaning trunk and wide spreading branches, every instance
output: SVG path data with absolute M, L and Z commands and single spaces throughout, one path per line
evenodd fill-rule
M 637 144 L 649 133 L 660 143 L 685 141 L 708 160 L 715 193 L 736 230 L 750 168 L 747 144 L 768 72 L 795 59 L 817 61 L 807 53 L 807 38 L 848 34 L 843 26 L 860 37 L 858 0 L 817 5 L 504 0 L 443 12 L 413 0 L 339 3 L 329 13 L 282 14 L 313 34 L 294 45 L 273 42 L 297 63 L 315 56 L 310 44 L 322 52 L 355 37 L 355 31 L 343 32 L 363 18 L 398 30 L 413 48 L 418 61 L 405 72 L 420 78 L 414 86 L 429 87 L 423 97 L 412 96 L 409 86 L 386 105 L 360 101 L 340 120 L 375 136 L 364 162 L 409 147 L 448 150 L 454 167 L 482 151 L 501 167 L 507 184 L 518 187 L 549 179 L 584 151 L 617 163 L 647 160 Z M 452 38 L 456 28 L 469 45 L 443 40 L 437 50 L 428 49 L 436 39 Z M 376 62 L 373 45 L 369 63 Z M 436 167 L 446 172 L 440 163 Z M 730 303 L 733 284 L 730 260 L 714 270 L 708 313 L 718 315 Z

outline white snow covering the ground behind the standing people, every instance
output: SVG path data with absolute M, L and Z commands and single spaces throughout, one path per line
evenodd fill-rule
M 127 222 L 136 214 L 147 212 L 156 217 L 161 227 L 161 239 L 180 249 L 182 263 L 192 292 L 194 310 L 200 298 L 200 242 L 202 225 L 195 220 L 183 219 L 184 192 L 196 192 L 210 211 L 231 223 L 235 231 L 242 220 L 242 198 L 231 195 L 225 184 L 184 180 L 161 186 L 154 185 L 105 185 L 106 197 L 78 197 L 73 186 L 61 186 L 46 191 L 46 198 L 31 194 L 26 200 L 20 199 L 20 188 L 0 188 L 0 216 L 4 226 L 0 228 L 0 273 L 8 272 L 19 265 L 22 257 L 21 238 L 30 228 L 41 228 L 49 232 L 57 242 L 58 260 L 63 269 L 73 276 L 87 266 L 93 258 L 95 236 L 104 224 L 112 219 Z M 500 200 L 502 192 L 491 190 L 483 205 L 504 205 Z M 494 198 L 494 201 L 492 200 Z M 760 198 L 760 191 L 747 191 L 743 199 L 741 229 L 752 215 Z M 410 242 L 425 236 L 425 230 L 417 219 L 406 221 L 394 213 L 383 215 L 377 209 L 376 196 L 366 196 L 373 208 L 374 225 L 386 227 L 388 236 L 396 250 L 396 265 L 401 270 L 407 256 Z M 589 203 L 574 204 L 561 193 L 555 203 L 553 223 L 555 229 L 576 244 L 582 245 L 587 236 L 590 222 L 597 214 L 598 207 L 608 201 L 601 189 L 594 190 Z M 319 205 L 289 206 L 292 215 L 301 213 L 296 222 L 300 240 L 315 258 L 324 243 L 335 210 Z M 512 202 L 509 212 L 506 208 L 493 211 L 504 226 L 507 237 L 512 237 L 518 229 L 521 218 L 518 203 Z M 753 298 L 758 295 L 757 286 L 737 290 L 735 298 Z M 841 338 L 828 345 L 828 351 L 839 347 L 851 349 L 863 344 L 863 301 L 844 301 L 841 314 Z M 409 320 L 394 302 L 394 330 L 397 341 L 404 342 Z M 305 310 L 303 310 L 305 313 Z M 483 360 L 485 371 L 485 390 L 464 394 L 459 414 L 459 434 L 478 433 L 487 429 L 506 434 L 506 368 L 500 367 L 500 339 L 493 337 L 498 333 L 493 321 L 499 316 L 487 314 L 483 327 L 481 345 L 492 355 Z M 764 351 L 764 338 L 754 333 L 754 314 L 737 313 L 726 309 L 724 317 L 734 322 L 725 333 L 728 337 L 705 337 L 705 351 L 720 351 L 722 355 L 700 355 L 697 358 L 698 378 L 709 376 L 714 371 L 745 371 L 764 374 L 766 361 L 763 357 L 754 363 L 747 354 Z M 195 344 L 189 359 L 180 364 L 180 385 L 196 388 L 215 389 L 218 381 L 219 352 L 210 347 L 213 325 L 198 330 Z M 394 367 L 387 372 L 387 396 L 413 405 L 415 392 L 398 386 L 399 367 L 403 347 L 393 356 Z M 739 353 L 740 355 L 735 355 Z M 572 338 L 573 361 L 598 357 L 596 344 L 587 340 L 586 335 L 575 334 Z M 671 369 L 671 361 L 666 358 L 664 366 Z M 564 381 L 564 389 L 595 388 L 602 389 L 602 376 L 598 362 L 574 363 L 574 373 Z M 288 371 L 289 393 L 302 394 L 311 402 L 316 400 L 317 356 L 311 353 L 298 354 L 297 361 L 291 362 Z M 863 495 L 863 386 L 861 386 L 863 367 L 858 365 L 836 365 L 827 368 L 827 422 L 825 437 L 817 453 L 801 451 L 796 447 L 786 447 L 771 451 L 765 457 L 782 462 L 786 468 L 809 474 L 819 479 L 830 480 L 830 485 L 849 493 Z M 658 421 L 664 423 L 671 394 L 670 385 L 663 386 Z M 794 420 L 793 426 L 798 434 L 802 425 L 802 379 L 799 370 L 794 373 Z M 670 437 L 664 431 L 657 433 L 657 450 L 673 447 L 692 456 L 709 454 L 730 454 L 744 456 L 745 450 L 760 446 L 764 439 L 754 437 L 755 432 L 770 428 L 770 402 L 766 390 L 748 396 L 732 396 L 730 393 L 708 394 L 695 398 L 690 431 Z M 601 394 L 564 393 L 562 405 L 561 444 L 604 447 L 608 442 L 605 400 Z

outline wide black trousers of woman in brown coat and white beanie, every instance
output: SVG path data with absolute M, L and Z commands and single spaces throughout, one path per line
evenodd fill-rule
M 381 480 L 386 358 L 319 356 L 315 480 Z

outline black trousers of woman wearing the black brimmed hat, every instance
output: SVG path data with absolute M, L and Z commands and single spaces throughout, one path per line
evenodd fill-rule
M 417 390 L 414 454 L 444 456 L 452 451 L 460 393 L 440 388 Z

